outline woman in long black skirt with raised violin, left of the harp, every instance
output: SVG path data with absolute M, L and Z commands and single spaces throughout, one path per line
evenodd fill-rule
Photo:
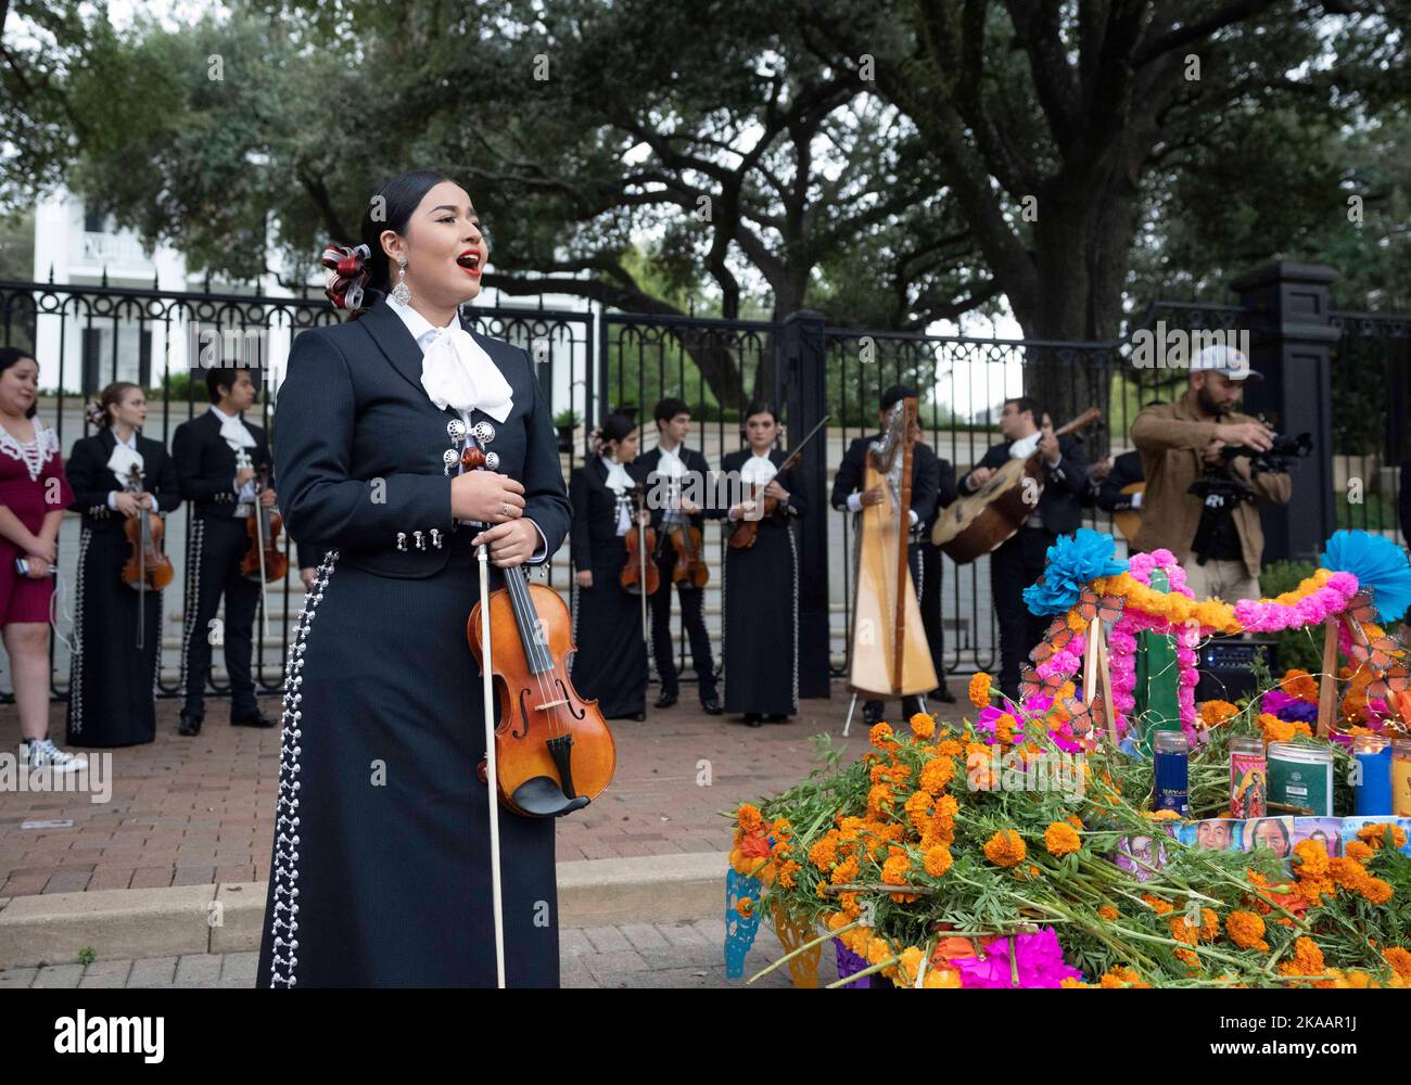
M 729 509 L 729 522 L 762 512 L 766 497 L 777 502 L 759 521 L 753 546 L 725 547 L 724 643 L 725 711 L 744 713 L 745 722 L 782 724 L 799 711 L 799 547 L 793 518 L 804 501 L 794 491 L 793 471 L 779 471 L 787 456 L 775 447 L 779 418 L 752 404 L 742 426 L 748 449 L 729 453 L 721 467 L 756 487 L 756 499 Z

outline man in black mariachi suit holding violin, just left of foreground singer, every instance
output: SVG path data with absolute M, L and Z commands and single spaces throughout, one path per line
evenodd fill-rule
M 274 508 L 274 466 L 262 428 L 243 412 L 255 402 L 248 370 L 207 370 L 210 409 L 182 422 L 172 436 L 172 459 L 181 495 L 190 502 L 186 528 L 186 622 L 182 629 L 182 735 L 199 735 L 206 717 L 206 674 L 210 669 L 210 624 L 226 598 L 226 670 L 230 673 L 230 724 L 274 727 L 260 711 L 250 676 L 255 611 L 261 584 L 240 571 L 250 550 L 250 516 L 255 504 Z M 248 466 L 243 466 L 248 464 Z M 264 485 L 257 474 L 264 473 Z

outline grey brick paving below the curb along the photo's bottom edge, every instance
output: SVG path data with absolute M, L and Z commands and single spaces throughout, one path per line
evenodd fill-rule
M 721 988 L 725 981 L 721 920 L 636 923 L 581 927 L 560 938 L 564 988 Z M 825 947 L 827 948 L 827 947 Z M 745 958 L 745 979 L 783 955 L 768 927 Z M 87 965 L 0 969 L 6 988 L 251 988 L 258 954 L 193 954 L 144 961 L 95 961 Z M 818 968 L 820 983 L 837 978 L 831 952 Z M 786 988 L 789 969 L 770 972 L 753 986 Z

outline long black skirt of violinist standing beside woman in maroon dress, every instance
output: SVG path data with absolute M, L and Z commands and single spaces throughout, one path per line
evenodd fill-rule
M 157 738 L 157 667 L 162 593 L 145 593 L 143 646 L 137 614 L 143 593 L 123 583 L 131 543 L 121 531 L 83 528 L 73 588 L 69 660 L 71 746 L 135 746 Z

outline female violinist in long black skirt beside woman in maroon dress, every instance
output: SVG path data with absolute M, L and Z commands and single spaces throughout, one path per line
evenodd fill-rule
M 97 433 L 79 437 L 68 463 L 71 508 L 83 515 L 73 607 L 76 650 L 69 665 L 69 744 L 130 746 L 157 737 L 162 593 L 124 580 L 133 553 L 124 526 L 144 511 L 150 516 L 175 511 L 181 484 L 162 443 L 140 433 L 147 398 L 138 385 L 114 381 L 86 415 Z

